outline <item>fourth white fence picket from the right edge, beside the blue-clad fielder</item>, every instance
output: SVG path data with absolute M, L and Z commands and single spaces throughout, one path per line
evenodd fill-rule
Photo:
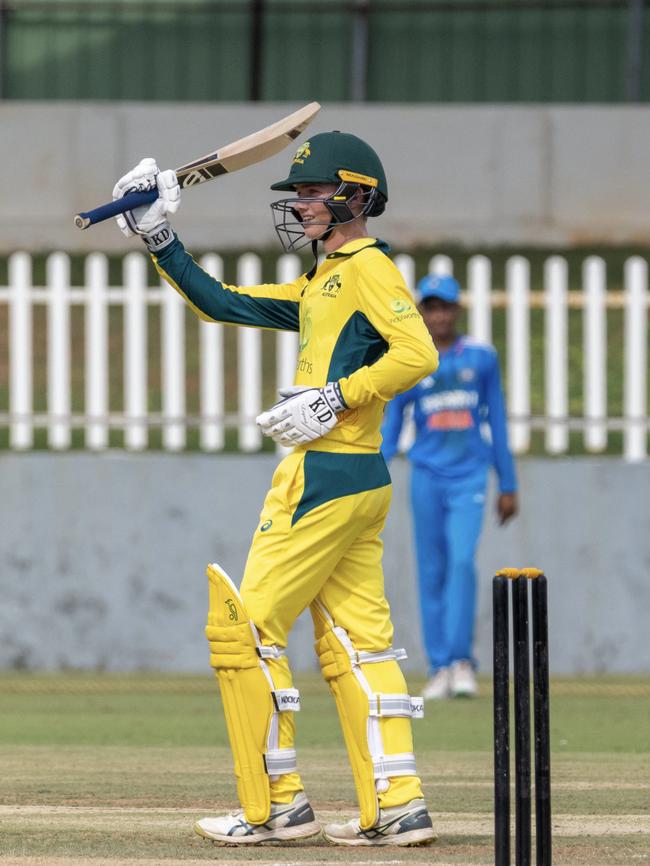
M 530 448 L 530 265 L 523 256 L 506 263 L 506 363 L 510 444 Z

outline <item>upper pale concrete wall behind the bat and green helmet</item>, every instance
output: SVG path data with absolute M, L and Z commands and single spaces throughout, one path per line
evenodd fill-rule
M 0 104 L 0 253 L 133 249 L 113 223 L 80 232 L 72 216 L 109 200 L 143 156 L 177 166 L 296 107 Z M 650 242 L 645 107 L 328 104 L 309 131 L 331 129 L 380 153 L 390 207 L 371 225 L 396 246 Z M 186 243 L 277 244 L 268 187 L 290 158 L 187 192 L 174 220 Z

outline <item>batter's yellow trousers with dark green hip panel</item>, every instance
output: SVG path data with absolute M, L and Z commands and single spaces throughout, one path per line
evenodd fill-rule
M 390 506 L 390 476 L 380 454 L 296 451 L 278 466 L 249 552 L 241 595 L 262 642 L 286 647 L 293 623 L 319 601 L 358 651 L 391 646 L 380 533 Z M 276 688 L 291 688 L 286 658 L 267 662 Z M 366 666 L 376 692 L 407 692 L 394 662 Z M 293 748 L 294 714 L 280 714 L 280 748 Z M 387 754 L 413 751 L 411 721 L 382 718 Z M 271 799 L 303 789 L 290 773 L 271 783 Z M 379 793 L 383 808 L 421 797 L 416 776 L 394 777 Z

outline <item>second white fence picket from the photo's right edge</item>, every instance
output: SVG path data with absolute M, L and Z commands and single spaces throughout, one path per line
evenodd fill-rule
M 607 313 L 605 308 L 605 262 L 589 256 L 582 266 L 584 306 L 583 334 L 583 416 L 587 451 L 607 447 Z

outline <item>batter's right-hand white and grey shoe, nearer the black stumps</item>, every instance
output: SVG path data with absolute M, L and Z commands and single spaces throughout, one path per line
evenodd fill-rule
M 379 820 L 362 830 L 358 820 L 326 824 L 325 838 L 335 845 L 430 845 L 436 841 L 424 800 L 379 810 Z

